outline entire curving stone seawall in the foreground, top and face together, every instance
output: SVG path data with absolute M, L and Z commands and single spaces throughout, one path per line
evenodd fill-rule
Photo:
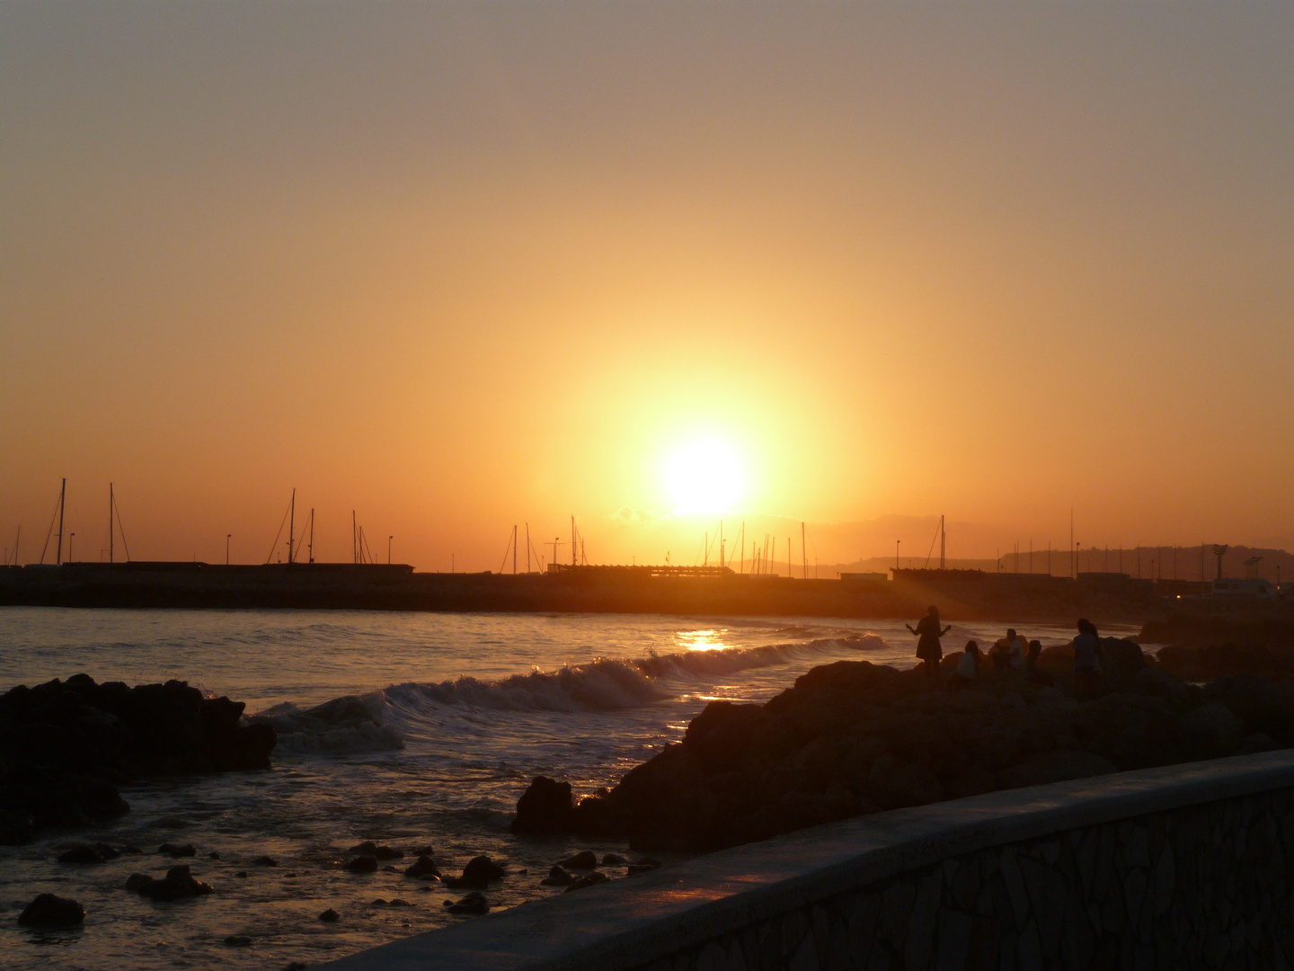
M 329 967 L 1294 966 L 1294 751 L 868 816 Z

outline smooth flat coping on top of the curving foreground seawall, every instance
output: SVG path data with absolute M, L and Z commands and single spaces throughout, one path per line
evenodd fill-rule
M 405 937 L 320 967 L 625 971 L 947 857 L 1280 788 L 1294 788 L 1294 750 L 951 799 L 707 853 Z

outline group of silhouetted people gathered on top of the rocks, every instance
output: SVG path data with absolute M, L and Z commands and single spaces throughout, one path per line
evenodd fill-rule
M 930 607 L 916 627 L 906 625 L 916 637 L 916 656 L 921 659 L 921 667 L 932 678 L 939 676 L 939 663 L 943 660 L 943 646 L 941 640 L 947 636 L 951 625 L 942 627 L 938 607 Z M 1078 621 L 1078 636 L 1073 641 L 1074 646 L 1074 694 L 1079 698 L 1091 698 L 1100 693 L 1101 640 L 1096 627 L 1086 618 Z M 967 646 L 958 659 L 956 669 L 949 681 L 949 690 L 958 691 L 969 687 L 980 680 L 980 668 L 986 660 L 998 672 L 1018 672 L 1030 684 L 1051 685 L 1055 680 L 1049 673 L 1038 665 L 1042 658 L 1043 645 L 1040 641 L 1025 641 L 1014 628 L 1007 629 L 1007 636 L 994 642 L 987 651 L 981 651 L 974 641 L 967 641 Z

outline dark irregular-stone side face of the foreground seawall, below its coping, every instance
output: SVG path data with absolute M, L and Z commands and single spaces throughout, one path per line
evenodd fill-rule
M 1285 968 L 1294 794 L 1210 803 L 950 858 L 647 971 Z

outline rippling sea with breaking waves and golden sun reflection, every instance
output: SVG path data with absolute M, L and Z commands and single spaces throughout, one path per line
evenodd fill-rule
M 1020 629 L 1044 646 L 1073 636 Z M 954 624 L 945 651 L 1004 632 Z M 0 691 L 80 672 L 179 678 L 246 702 L 280 739 L 269 770 L 138 782 L 122 791 L 131 812 L 110 825 L 0 847 L 0 966 L 282 970 L 472 919 L 444 906 L 461 892 L 402 874 L 413 856 L 375 874 L 343 870 L 364 840 L 409 854 L 431 847 L 445 873 L 489 856 L 507 870 L 487 893 L 494 910 L 560 893 L 540 880 L 563 857 L 637 854 L 617 840 L 511 835 L 534 776 L 569 779 L 577 794 L 613 786 L 712 700 L 763 702 L 841 659 L 907 668 L 914 650 L 905 620 L 0 608 Z M 74 840 L 144 853 L 57 862 Z M 197 856 L 182 862 L 215 892 L 175 902 L 128 892 L 132 873 L 162 876 L 176 862 L 158 854 L 162 843 L 192 843 Z M 265 856 L 277 865 L 254 862 Z M 41 892 L 80 901 L 84 926 L 19 927 Z M 340 919 L 321 922 L 326 909 Z

